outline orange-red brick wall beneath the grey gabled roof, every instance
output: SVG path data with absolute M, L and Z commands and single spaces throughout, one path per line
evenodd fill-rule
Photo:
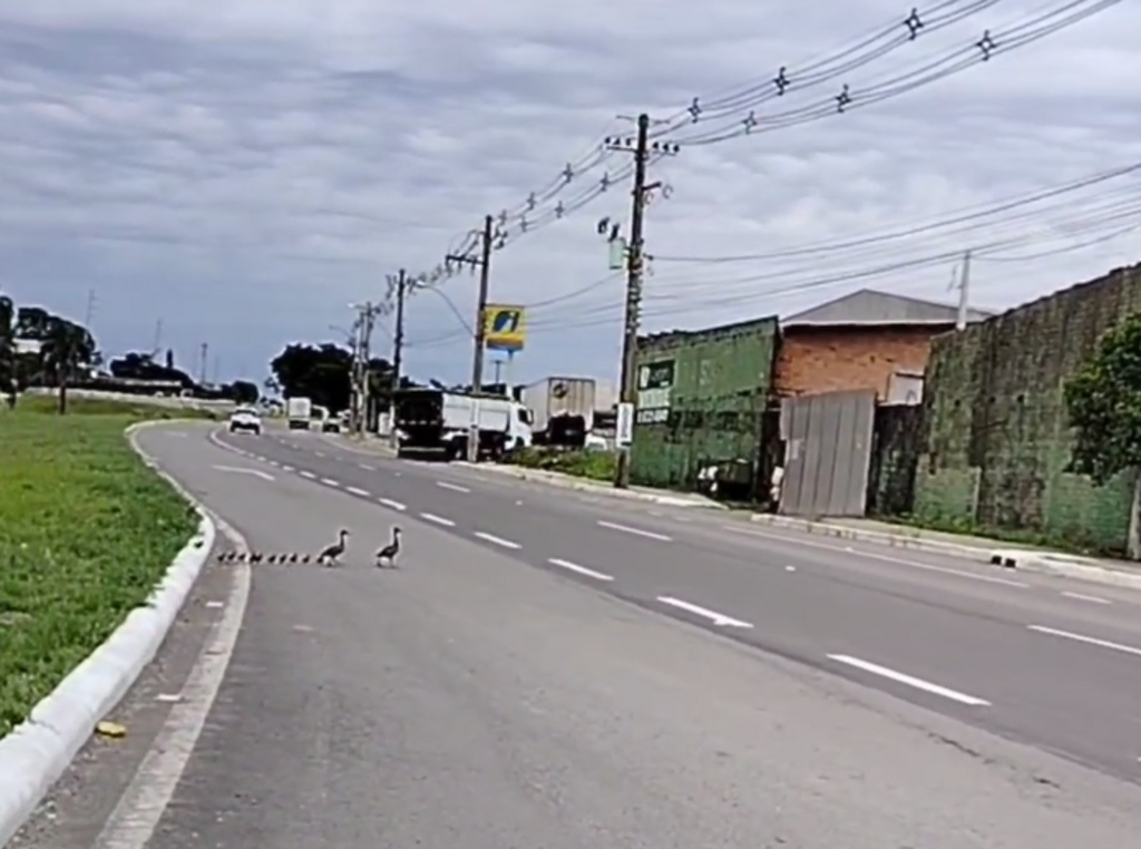
M 922 373 L 938 326 L 790 328 L 777 353 L 778 395 L 875 389 L 887 396 L 893 372 Z

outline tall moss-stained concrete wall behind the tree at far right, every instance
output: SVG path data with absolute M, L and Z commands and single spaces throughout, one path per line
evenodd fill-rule
M 915 512 L 1124 551 L 1131 482 L 1095 487 L 1066 471 L 1062 388 L 1104 332 L 1139 310 L 1141 266 L 1134 266 L 937 338 Z

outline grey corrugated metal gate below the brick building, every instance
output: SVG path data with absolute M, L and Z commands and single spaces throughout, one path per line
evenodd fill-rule
M 872 389 L 782 399 L 780 514 L 864 516 L 875 403 Z

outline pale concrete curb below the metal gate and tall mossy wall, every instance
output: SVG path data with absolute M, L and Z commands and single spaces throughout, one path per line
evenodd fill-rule
M 770 527 L 783 527 L 818 536 L 852 540 L 853 542 L 871 542 L 877 545 L 888 545 L 911 551 L 926 551 L 933 555 L 949 555 L 952 557 L 962 557 L 990 564 L 1003 569 L 1035 572 L 1044 575 L 1073 577 L 1079 581 L 1141 590 L 1141 569 L 1132 573 L 1123 569 L 1107 568 L 1092 558 L 1082 558 L 1053 551 L 990 549 L 978 545 L 963 545 L 954 542 L 924 539 L 920 535 L 919 531 L 911 531 L 908 528 L 900 528 L 897 534 L 888 534 L 879 531 L 861 531 L 860 528 L 845 527 L 844 525 L 835 525 L 827 521 L 812 521 L 770 514 L 753 514 L 748 519 L 750 521 Z

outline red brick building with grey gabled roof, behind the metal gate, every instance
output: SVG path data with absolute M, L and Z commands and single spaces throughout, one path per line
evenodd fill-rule
M 954 330 L 957 308 L 864 289 L 780 322 L 779 396 L 875 389 L 887 403 L 917 404 L 931 338 Z M 968 322 L 989 313 L 968 310 Z

